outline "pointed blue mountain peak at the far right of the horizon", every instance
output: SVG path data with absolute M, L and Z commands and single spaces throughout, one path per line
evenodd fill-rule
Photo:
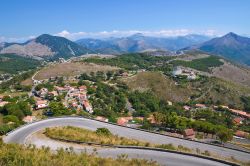
M 188 49 L 199 49 L 241 64 L 250 65 L 250 38 L 232 32 Z

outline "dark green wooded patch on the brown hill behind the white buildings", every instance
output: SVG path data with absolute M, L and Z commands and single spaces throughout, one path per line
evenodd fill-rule
M 220 58 L 216 56 L 194 59 L 192 61 L 174 60 L 171 63 L 174 66 L 185 66 L 205 72 L 209 72 L 211 67 L 218 67 L 223 65 L 223 62 L 220 61 Z

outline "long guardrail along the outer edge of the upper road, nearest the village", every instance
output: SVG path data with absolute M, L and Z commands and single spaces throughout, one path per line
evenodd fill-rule
M 166 135 L 166 134 L 162 134 L 162 133 L 159 133 L 159 132 L 144 130 L 144 129 L 140 129 L 140 128 L 133 128 L 133 127 L 128 127 L 128 126 L 122 126 L 122 125 L 118 125 L 118 124 L 112 123 L 112 122 L 100 121 L 100 120 L 94 119 L 94 118 L 92 118 L 92 117 L 83 117 L 83 116 L 58 116 L 58 117 L 49 117 L 49 118 L 47 118 L 47 119 L 60 119 L 60 118 L 89 119 L 89 120 L 93 120 L 93 121 L 97 121 L 97 122 L 102 122 L 102 123 L 106 123 L 106 124 L 111 124 L 111 125 L 115 125 L 115 126 L 120 126 L 120 127 L 123 127 L 123 128 L 129 128 L 129 129 L 133 129 L 133 130 L 143 131 L 143 132 L 147 132 L 147 133 L 153 133 L 153 134 L 157 134 L 157 135 L 162 135 L 162 136 L 166 136 L 166 137 L 172 137 L 172 138 L 181 139 L 181 140 L 190 141 L 190 142 L 197 142 L 197 143 L 201 143 L 201 144 L 206 144 L 206 145 L 221 147 L 221 148 L 225 148 L 225 149 L 230 149 L 230 150 L 235 150 L 235 151 L 239 151 L 239 152 L 244 152 L 244 153 L 250 154 L 250 152 L 249 152 L 249 151 L 246 151 L 246 150 L 241 150 L 241 149 L 236 149 L 236 148 L 231 148 L 231 147 L 225 147 L 225 146 L 221 146 L 221 145 L 217 145 L 217 144 L 212 144 L 212 143 L 207 143 L 207 142 L 201 142 L 201 141 L 197 141 L 197 140 L 190 140 L 190 139 L 185 139 L 185 138 L 179 138 L 179 137 L 175 137 L 175 136 L 171 136 L 171 135 Z M 43 121 L 43 120 L 47 120 L 47 119 L 42 119 L 42 120 L 39 120 L 39 121 L 34 121 L 34 122 L 31 122 L 31 123 L 24 124 L 24 125 L 22 125 L 22 126 L 19 126 L 19 127 L 16 128 L 16 129 L 14 129 L 14 130 L 8 132 L 6 135 L 11 134 L 12 132 L 18 130 L 19 128 L 22 128 L 22 127 L 25 127 L 25 126 L 27 126 L 27 125 L 30 125 L 30 124 L 33 124 L 33 123 L 37 123 L 37 122 L 40 122 L 40 121 Z

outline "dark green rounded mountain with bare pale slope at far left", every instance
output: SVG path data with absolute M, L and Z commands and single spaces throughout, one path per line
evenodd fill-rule
M 16 54 L 34 59 L 56 59 L 79 56 L 89 52 L 66 38 L 43 34 L 25 43 L 3 44 L 1 54 Z

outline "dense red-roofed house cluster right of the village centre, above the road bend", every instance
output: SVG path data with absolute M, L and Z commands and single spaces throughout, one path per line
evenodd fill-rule
M 87 87 L 85 85 L 78 88 L 66 85 L 64 87 L 56 86 L 55 89 L 59 94 L 66 93 L 65 105 L 78 111 L 85 109 L 89 113 L 93 113 L 93 108 L 89 103 L 87 96 Z

